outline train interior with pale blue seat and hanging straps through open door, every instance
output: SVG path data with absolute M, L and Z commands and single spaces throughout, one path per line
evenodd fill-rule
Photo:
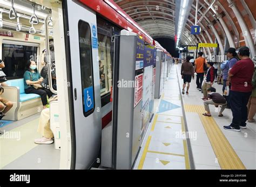
M 24 93 L 26 62 L 35 61 L 40 72 L 45 66 L 45 32 L 48 32 L 48 39 L 53 39 L 52 27 L 56 18 L 51 16 L 50 1 L 42 2 L 0 2 L 0 56 L 5 62 L 3 71 L 8 79 L 5 83 L 9 85 L 3 87 L 2 97 L 14 103 L 0 124 L 1 132 L 5 134 L 5 138 L 0 139 L 1 169 L 59 169 L 58 102 L 53 101 L 49 106 L 55 143 L 39 145 L 34 140 L 42 137 L 37 132 L 43 109 L 41 98 Z

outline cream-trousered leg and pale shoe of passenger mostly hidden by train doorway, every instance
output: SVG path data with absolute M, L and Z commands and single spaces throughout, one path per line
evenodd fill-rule
M 57 96 L 50 98 L 49 102 L 51 102 L 52 100 L 57 100 Z M 53 143 L 53 133 L 50 129 L 50 109 L 42 110 L 39 118 L 37 132 L 40 133 L 43 137 L 35 139 L 35 143 L 37 144 Z

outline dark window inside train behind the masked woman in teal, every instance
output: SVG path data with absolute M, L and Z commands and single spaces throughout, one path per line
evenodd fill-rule
M 36 46 L 2 44 L 2 59 L 5 64 L 3 71 L 6 77 L 9 80 L 15 78 L 23 78 L 26 62 L 34 58 L 34 61 L 36 61 L 36 56 Z

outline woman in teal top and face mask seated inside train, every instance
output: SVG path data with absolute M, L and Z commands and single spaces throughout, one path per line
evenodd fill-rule
M 32 87 L 33 84 L 40 84 L 44 78 L 41 77 L 39 74 L 37 68 L 36 68 L 36 62 L 28 60 L 28 63 L 26 64 L 26 71 L 24 73 L 24 89 L 25 93 L 36 93 L 39 96 L 41 96 L 43 108 L 46 109 L 47 104 L 47 95 L 50 98 L 52 96 L 52 92 L 48 89 L 35 89 Z

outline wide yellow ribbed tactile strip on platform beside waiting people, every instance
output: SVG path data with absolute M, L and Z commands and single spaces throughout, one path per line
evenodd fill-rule
M 205 112 L 202 105 L 185 104 L 184 109 L 198 113 L 221 169 L 246 169 L 214 118 L 202 115 Z

